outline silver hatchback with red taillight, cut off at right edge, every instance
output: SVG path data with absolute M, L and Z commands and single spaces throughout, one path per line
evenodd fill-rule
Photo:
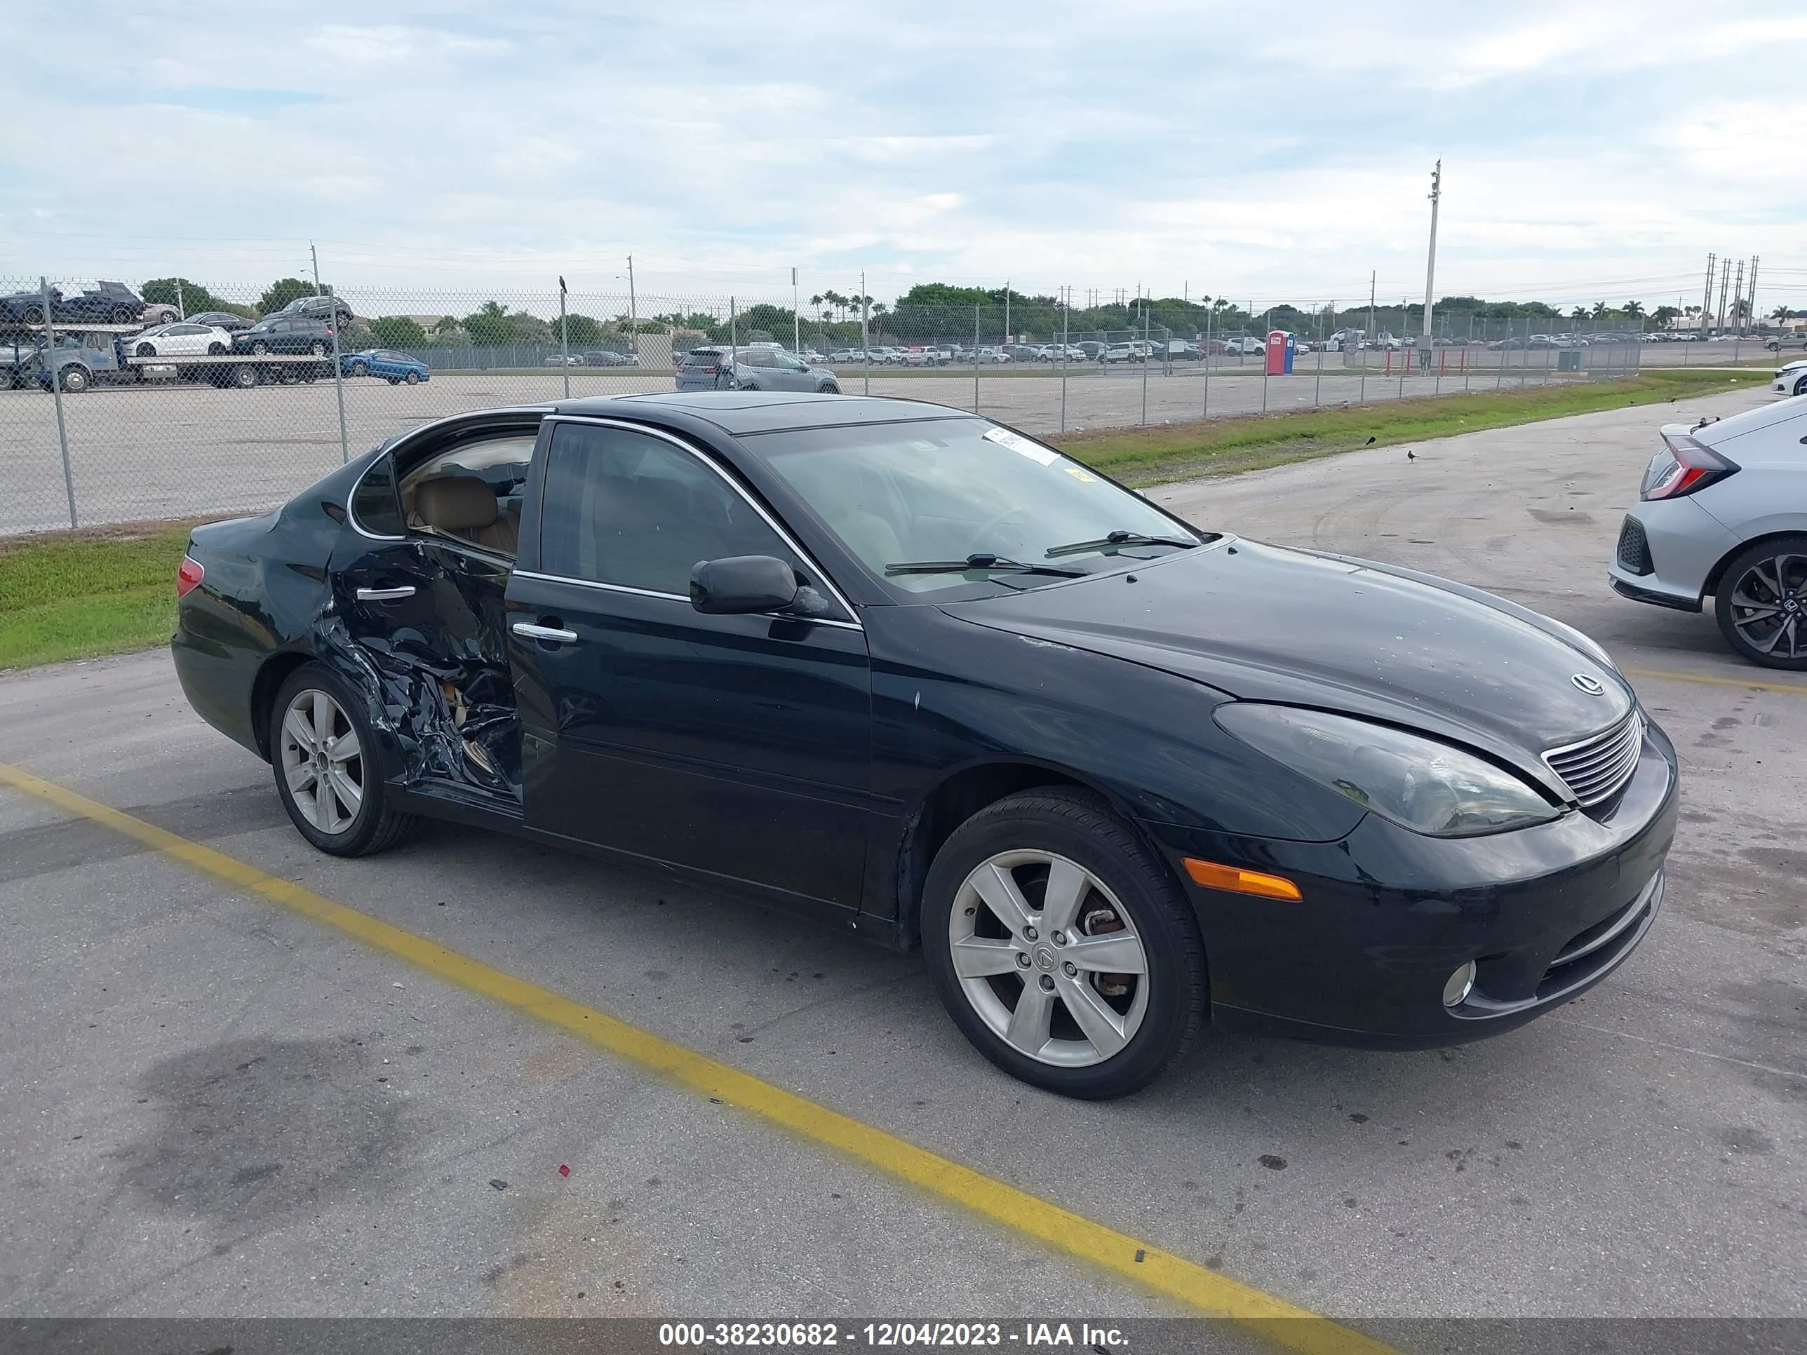
M 1624 515 L 1612 589 L 1713 614 L 1767 668 L 1807 670 L 1807 399 L 1662 428 Z

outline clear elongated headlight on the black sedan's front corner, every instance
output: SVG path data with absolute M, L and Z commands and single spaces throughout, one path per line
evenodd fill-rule
M 1431 836 L 1473 836 L 1556 818 L 1523 779 L 1437 739 L 1321 710 L 1232 701 L 1218 724 L 1294 771 Z

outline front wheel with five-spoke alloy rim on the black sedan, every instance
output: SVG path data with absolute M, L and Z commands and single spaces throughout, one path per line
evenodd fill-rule
M 1191 907 L 1084 791 L 1023 791 L 954 829 L 929 867 L 922 938 L 960 1032 L 1046 1091 L 1137 1091 L 1203 1024 L 1205 948 Z

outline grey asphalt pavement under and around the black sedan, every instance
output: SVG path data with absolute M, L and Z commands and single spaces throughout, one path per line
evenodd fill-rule
M 92 408 L 112 399 L 188 394 Z M 0 678 L 0 762 L 1146 1241 L 1194 1295 L 1243 1294 L 1209 1288 L 1232 1277 L 1377 1333 L 1807 1317 L 1807 681 L 1605 585 L 1655 426 L 1764 399 L 1155 491 L 1570 621 L 1675 739 L 1650 939 L 1581 1001 L 1456 1050 L 1214 1035 L 1142 1095 L 1059 1100 L 965 1044 L 916 956 L 464 829 L 318 855 L 163 652 Z M 430 417 L 421 390 L 378 403 Z M 267 894 L 0 786 L 0 1315 L 1185 1312 L 983 1209 L 985 1187 L 902 1183 Z

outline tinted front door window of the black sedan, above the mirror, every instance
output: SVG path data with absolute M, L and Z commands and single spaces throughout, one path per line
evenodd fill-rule
M 690 596 L 699 560 L 795 553 L 701 457 L 631 428 L 558 425 L 546 463 L 540 569 Z

